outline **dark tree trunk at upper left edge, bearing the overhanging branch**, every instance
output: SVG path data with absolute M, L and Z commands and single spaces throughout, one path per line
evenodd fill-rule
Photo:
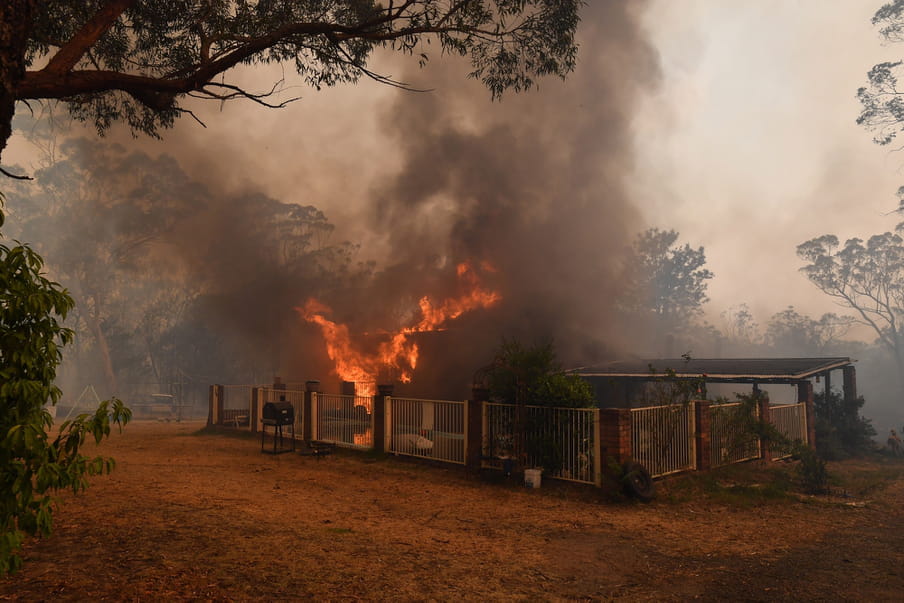
M 25 77 L 25 47 L 37 0 L 0 2 L 0 158 L 12 135 L 16 89 Z

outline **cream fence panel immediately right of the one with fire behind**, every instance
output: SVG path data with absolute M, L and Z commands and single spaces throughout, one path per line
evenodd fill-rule
M 388 452 L 464 464 L 465 402 L 389 398 Z

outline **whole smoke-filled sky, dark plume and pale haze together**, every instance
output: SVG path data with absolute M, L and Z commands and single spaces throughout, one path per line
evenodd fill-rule
M 369 342 L 408 324 L 421 296 L 453 293 L 461 261 L 492 264 L 479 273 L 503 301 L 420 335 L 412 388 L 469 379 L 502 336 L 552 337 L 566 365 L 590 364 L 648 353 L 612 308 L 625 248 L 651 226 L 705 247 L 707 318 L 720 328 L 742 303 L 761 326 L 792 304 L 839 311 L 794 249 L 897 221 L 883 214 L 904 159 L 854 123 L 866 71 L 901 50 L 878 42 L 879 4 L 590 2 L 576 71 L 502 102 L 466 79 L 465 62 L 431 55 L 421 70 L 383 53 L 376 71 L 431 91 L 289 89 L 302 100 L 284 110 L 208 103 L 197 108 L 207 129 L 183 119 L 160 142 L 111 138 L 172 154 L 210 191 L 168 249 L 221 294 L 205 311 L 274 373 L 329 379 L 319 331 L 292 311 L 308 296 Z M 261 91 L 283 75 L 291 85 L 278 68 L 238 78 Z M 359 245 L 343 252 L 353 266 L 374 260 L 374 278 L 360 289 L 330 289 L 316 271 L 288 278 L 266 243 L 266 199 L 323 210 L 335 232 L 322 243 Z

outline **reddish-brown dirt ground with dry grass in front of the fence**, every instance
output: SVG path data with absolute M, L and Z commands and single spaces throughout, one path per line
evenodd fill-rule
M 789 473 L 747 464 L 667 479 L 641 504 L 348 452 L 265 455 L 202 426 L 137 422 L 104 442 L 115 471 L 60 497 L 53 536 L 27 545 L 0 599 L 904 599 L 901 462 L 832 465 L 853 490 L 830 497 L 726 487 Z

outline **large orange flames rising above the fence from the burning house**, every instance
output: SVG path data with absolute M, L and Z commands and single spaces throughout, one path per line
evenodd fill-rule
M 484 270 L 492 267 L 485 262 Z M 366 354 L 353 344 L 348 327 L 326 318 L 330 308 L 315 299 L 309 299 L 303 308 L 296 311 L 308 322 L 320 327 L 326 342 L 327 355 L 335 363 L 336 374 L 344 381 L 354 381 L 358 387 L 358 395 L 373 395 L 377 376 L 387 369 L 397 375 L 399 381 L 411 381 L 411 375 L 417 368 L 418 346 L 409 340 L 412 333 L 440 331 L 446 323 L 455 320 L 465 312 L 478 308 L 489 308 L 502 297 L 498 292 L 485 289 L 474 269 L 467 262 L 457 267 L 459 281 L 465 292 L 458 297 L 451 297 L 439 303 L 424 296 L 418 302 L 420 319 L 413 325 L 403 327 L 392 333 L 389 339 L 380 343 L 376 353 Z

